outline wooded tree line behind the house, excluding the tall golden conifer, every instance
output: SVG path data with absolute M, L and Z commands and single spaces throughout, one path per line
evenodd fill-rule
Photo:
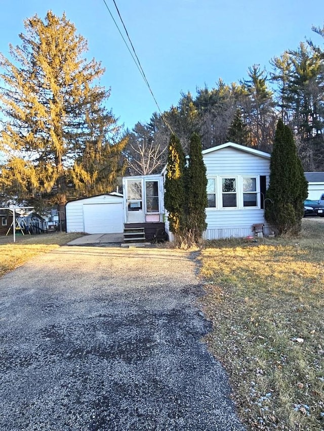
M 324 27 L 312 30 L 324 38 Z M 164 112 L 188 152 L 190 136 L 201 136 L 203 149 L 226 141 L 271 153 L 277 121 L 294 133 L 305 171 L 324 170 L 324 50 L 311 40 L 270 60 L 270 70 L 255 64 L 248 77 L 181 94 Z M 161 115 L 127 130 L 130 173 L 147 174 L 166 163 L 170 132 Z

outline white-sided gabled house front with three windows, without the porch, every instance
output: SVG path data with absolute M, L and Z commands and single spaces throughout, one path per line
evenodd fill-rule
M 233 142 L 203 151 L 207 169 L 206 240 L 272 233 L 264 219 L 270 154 Z M 169 233 L 168 220 L 166 220 Z M 170 235 L 170 233 L 169 233 Z

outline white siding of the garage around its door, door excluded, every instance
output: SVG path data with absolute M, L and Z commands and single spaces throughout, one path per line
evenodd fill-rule
M 79 199 L 77 201 L 68 202 L 65 206 L 66 210 L 66 231 L 67 232 L 84 232 L 84 211 L 85 204 L 109 204 L 123 203 L 123 197 L 114 195 L 100 195 L 92 198 Z M 122 208 L 122 207 L 121 207 Z M 123 217 L 123 209 L 121 210 Z

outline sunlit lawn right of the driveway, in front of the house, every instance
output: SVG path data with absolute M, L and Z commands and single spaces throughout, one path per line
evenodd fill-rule
M 262 243 L 262 244 L 261 244 Z M 238 413 L 252 430 L 324 429 L 324 220 L 294 240 L 202 251 L 202 299 Z

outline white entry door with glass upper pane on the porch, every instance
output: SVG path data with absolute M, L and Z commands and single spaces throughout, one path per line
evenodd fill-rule
M 127 223 L 144 223 L 143 179 L 127 179 Z

